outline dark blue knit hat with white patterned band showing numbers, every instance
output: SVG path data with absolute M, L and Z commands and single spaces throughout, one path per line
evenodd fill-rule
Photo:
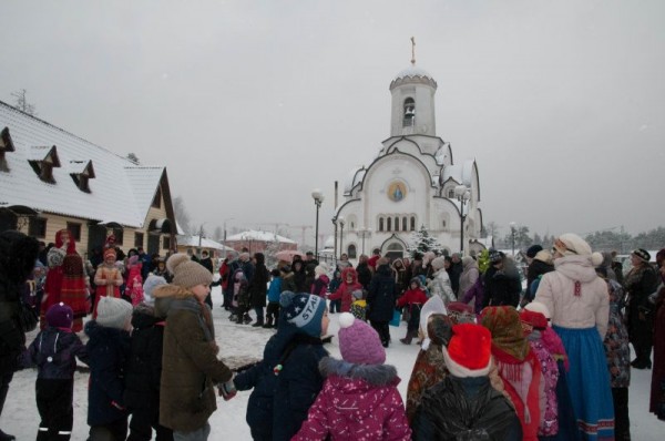
M 279 297 L 280 315 L 303 334 L 321 336 L 321 320 L 326 310 L 326 300 L 309 294 L 284 291 Z

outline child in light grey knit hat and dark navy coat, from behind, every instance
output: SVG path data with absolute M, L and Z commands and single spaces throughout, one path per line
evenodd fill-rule
M 127 412 L 124 402 L 125 363 L 130 352 L 132 305 L 102 297 L 96 319 L 85 324 L 90 366 L 88 425 L 90 439 L 124 440 Z

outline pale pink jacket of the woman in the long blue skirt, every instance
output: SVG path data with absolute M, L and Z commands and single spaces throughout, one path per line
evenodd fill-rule
M 607 332 L 610 291 L 591 263 L 591 256 L 564 256 L 554 260 L 554 271 L 541 279 L 534 301 L 544 304 L 552 325 L 583 329 L 596 327 L 601 340 Z

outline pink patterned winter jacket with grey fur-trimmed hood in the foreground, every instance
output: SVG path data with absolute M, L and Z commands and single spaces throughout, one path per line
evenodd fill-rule
M 291 441 L 411 439 L 395 367 L 327 357 L 319 370 L 327 377 L 324 388 Z

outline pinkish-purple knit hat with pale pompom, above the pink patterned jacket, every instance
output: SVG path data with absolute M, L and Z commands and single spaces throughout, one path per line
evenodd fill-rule
M 339 316 L 339 352 L 355 365 L 382 365 L 386 349 L 377 331 L 349 312 Z

